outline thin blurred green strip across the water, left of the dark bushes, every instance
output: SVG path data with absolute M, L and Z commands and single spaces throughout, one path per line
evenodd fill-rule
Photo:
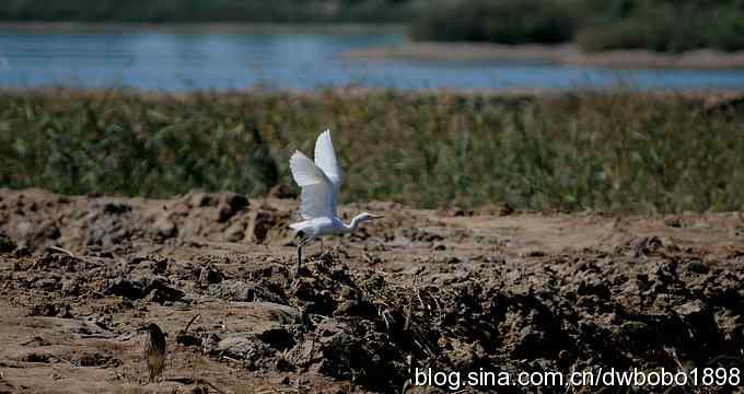
M 406 0 L 3 0 L 0 20 L 69 22 L 404 22 Z

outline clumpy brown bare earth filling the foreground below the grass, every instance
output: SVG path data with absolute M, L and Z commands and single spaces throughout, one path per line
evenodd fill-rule
M 314 244 L 294 278 L 297 206 L 0 190 L 0 393 L 425 393 L 406 386 L 410 367 L 743 364 L 737 213 L 350 205 L 385 219 Z M 168 334 L 152 383 L 148 322 Z

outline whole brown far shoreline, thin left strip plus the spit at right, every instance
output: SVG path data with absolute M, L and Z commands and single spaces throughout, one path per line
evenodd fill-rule
M 404 24 L 385 23 L 129 23 L 129 22 L 46 22 L 0 21 L 0 32 L 28 34 L 94 33 L 176 33 L 176 34 L 397 34 L 405 36 Z M 582 50 L 577 44 L 504 45 L 472 42 L 415 42 L 384 47 L 352 49 L 341 56 L 350 61 L 412 60 L 429 62 L 488 61 L 519 65 L 557 65 L 611 69 L 744 69 L 744 50 L 710 48 L 681 54 L 647 49 L 615 49 L 597 53 Z

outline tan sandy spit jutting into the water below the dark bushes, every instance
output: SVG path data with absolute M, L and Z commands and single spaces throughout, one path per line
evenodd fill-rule
M 683 54 L 660 54 L 642 49 L 585 53 L 573 44 L 499 45 L 486 43 L 405 43 L 392 47 L 354 49 L 349 59 L 419 61 L 497 61 L 553 63 L 607 68 L 731 69 L 744 67 L 744 51 L 698 49 Z

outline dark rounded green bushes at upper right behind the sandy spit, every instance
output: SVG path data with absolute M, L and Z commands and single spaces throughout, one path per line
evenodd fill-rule
M 434 0 L 419 39 L 578 42 L 588 50 L 744 49 L 744 0 Z M 456 18 L 453 18 L 456 15 Z

